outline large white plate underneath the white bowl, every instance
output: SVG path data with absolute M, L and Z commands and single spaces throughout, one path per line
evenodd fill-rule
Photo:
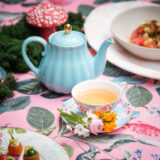
M 147 2 L 119 2 L 101 5 L 86 18 L 84 31 L 88 43 L 98 51 L 106 38 L 112 37 L 110 26 L 112 19 L 120 12 L 143 5 L 156 5 Z M 138 15 L 137 15 L 138 16 Z M 107 60 L 114 65 L 145 77 L 160 79 L 160 61 L 149 61 L 133 56 L 117 43 L 107 50 Z

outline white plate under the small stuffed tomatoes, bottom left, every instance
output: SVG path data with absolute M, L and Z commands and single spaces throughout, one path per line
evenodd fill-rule
M 0 147 L 6 149 L 11 139 L 8 129 L 10 128 L 0 128 L 0 139 L 2 140 Z M 39 152 L 41 160 L 69 160 L 64 149 L 56 141 L 47 136 L 28 130 L 25 130 L 25 133 L 16 133 L 15 128 L 13 130 L 13 137 L 22 143 L 23 152 L 25 146 L 33 146 Z M 23 160 L 23 153 L 19 159 Z

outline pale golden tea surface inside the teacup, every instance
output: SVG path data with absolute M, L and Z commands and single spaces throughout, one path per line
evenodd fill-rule
M 116 93 L 104 88 L 91 88 L 80 92 L 76 99 L 82 103 L 90 105 L 109 104 L 118 99 Z

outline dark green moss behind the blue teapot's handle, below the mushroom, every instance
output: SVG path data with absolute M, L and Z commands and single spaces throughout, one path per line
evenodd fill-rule
M 0 32 L 0 64 L 8 72 L 26 73 L 29 67 L 22 57 L 21 47 L 24 39 L 38 35 L 38 30 L 27 24 L 25 17 L 16 25 L 4 26 Z M 29 59 L 35 66 L 41 60 L 42 47 L 39 43 L 27 46 Z

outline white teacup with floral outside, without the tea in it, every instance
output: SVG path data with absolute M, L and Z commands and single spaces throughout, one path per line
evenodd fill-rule
M 127 86 L 127 83 L 123 84 L 124 87 L 115 84 L 111 81 L 108 80 L 87 80 L 87 81 L 83 81 L 78 83 L 77 85 L 75 85 L 72 89 L 72 97 L 75 100 L 75 103 L 77 104 L 79 110 L 81 112 L 83 112 L 84 114 L 87 111 L 92 111 L 92 112 L 100 112 L 100 113 L 105 113 L 105 112 L 109 112 L 110 109 L 114 106 L 116 106 L 119 101 L 121 96 L 123 95 L 123 92 Z M 106 89 L 109 90 L 111 92 L 113 92 L 116 95 L 116 99 L 114 99 L 113 101 L 109 102 L 109 103 L 105 103 L 105 104 L 89 104 L 89 103 L 84 103 L 81 100 L 79 100 L 77 97 L 79 94 L 85 93 L 85 91 L 88 91 L 90 89 Z

